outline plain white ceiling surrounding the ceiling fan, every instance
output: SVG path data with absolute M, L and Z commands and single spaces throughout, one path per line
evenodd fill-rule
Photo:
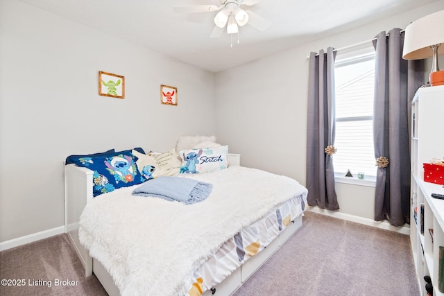
M 218 72 L 437 0 L 262 0 L 248 7 L 272 22 L 263 32 L 210 38 L 216 12 L 179 14 L 174 6 L 221 0 L 21 0 L 80 24 Z M 233 46 L 230 47 L 230 37 Z

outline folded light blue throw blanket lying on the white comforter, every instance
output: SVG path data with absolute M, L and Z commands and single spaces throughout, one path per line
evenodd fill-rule
M 183 204 L 201 202 L 210 195 L 212 184 L 185 177 L 157 177 L 133 190 L 133 195 L 155 196 Z

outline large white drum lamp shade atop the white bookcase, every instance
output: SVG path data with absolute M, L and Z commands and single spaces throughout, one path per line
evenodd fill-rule
M 444 10 L 413 21 L 404 34 L 402 58 L 421 60 L 432 57 L 431 46 L 444 43 Z M 438 47 L 437 54 L 444 54 L 444 45 Z

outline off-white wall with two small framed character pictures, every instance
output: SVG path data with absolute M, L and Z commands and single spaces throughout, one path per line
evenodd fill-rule
M 0 243 L 64 224 L 67 155 L 215 132 L 213 73 L 17 0 L 0 1 L 0 65 Z M 125 76 L 125 99 L 98 95 L 99 71 Z

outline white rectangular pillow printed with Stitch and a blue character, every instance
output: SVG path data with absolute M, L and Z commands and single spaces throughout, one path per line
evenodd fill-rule
M 180 173 L 210 173 L 228 167 L 228 146 L 181 150 Z

